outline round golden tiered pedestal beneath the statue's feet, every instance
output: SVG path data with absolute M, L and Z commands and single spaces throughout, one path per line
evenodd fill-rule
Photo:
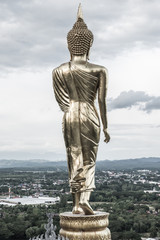
M 108 216 L 105 212 L 95 212 L 95 215 L 61 213 L 59 233 L 69 240 L 111 240 Z

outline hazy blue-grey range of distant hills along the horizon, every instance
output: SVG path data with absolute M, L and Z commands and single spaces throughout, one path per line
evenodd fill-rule
M 31 160 L 0 160 L 0 169 L 4 168 L 28 168 L 66 170 L 66 161 L 47 161 L 42 159 Z M 136 158 L 126 160 L 104 160 L 96 162 L 97 170 L 125 170 L 125 169 L 160 169 L 160 158 Z

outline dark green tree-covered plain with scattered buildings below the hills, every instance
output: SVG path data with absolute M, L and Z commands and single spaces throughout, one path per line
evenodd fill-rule
M 155 174 L 154 171 L 143 173 L 137 170 L 97 171 L 96 190 L 91 195 L 91 205 L 95 211 L 110 213 L 109 229 L 112 233 L 112 240 L 160 237 L 160 188 L 158 184 L 155 184 L 156 181 L 157 183 L 160 181 L 159 173 Z M 61 181 L 55 185 L 55 188 L 58 190 L 56 194 L 59 194 L 61 198 L 60 202 L 35 206 L 0 205 L 0 240 L 27 240 L 44 233 L 44 224 L 47 223 L 46 213 L 49 212 L 55 213 L 53 222 L 58 232 L 59 213 L 71 211 L 72 199 L 68 194 L 67 173 L 46 172 L 45 181 L 39 174 L 25 173 L 24 176 L 28 182 L 39 176 L 42 179 L 43 188 L 48 186 L 48 189 L 53 188 L 53 182 L 59 177 Z M 13 175 L 12 173 L 11 176 Z M 51 175 L 52 181 L 50 181 Z M 25 178 L 21 181 L 25 182 Z M 11 179 L 8 181 L 11 184 Z M 16 178 L 16 184 L 18 181 L 20 178 Z M 146 191 L 152 191 L 152 189 L 154 191 L 151 193 Z

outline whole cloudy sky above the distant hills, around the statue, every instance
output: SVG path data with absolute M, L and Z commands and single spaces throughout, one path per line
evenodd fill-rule
M 90 61 L 109 71 L 111 142 L 98 159 L 160 157 L 160 1 L 81 0 Z M 52 69 L 69 60 L 79 1 L 0 0 L 0 159 L 64 160 Z

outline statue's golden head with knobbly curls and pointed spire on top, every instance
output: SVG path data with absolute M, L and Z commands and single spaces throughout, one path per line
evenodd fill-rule
M 67 42 L 71 56 L 86 54 L 88 57 L 93 43 L 93 34 L 83 20 L 81 5 L 78 9 L 77 21 L 67 35 Z

